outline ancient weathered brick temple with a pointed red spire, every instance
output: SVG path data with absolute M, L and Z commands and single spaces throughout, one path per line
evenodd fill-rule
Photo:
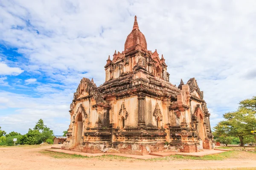
M 108 57 L 105 83 L 83 78 L 63 149 L 144 155 L 214 148 L 210 113 L 195 78 L 172 85 L 163 55 L 147 49 L 135 16 L 124 51 Z

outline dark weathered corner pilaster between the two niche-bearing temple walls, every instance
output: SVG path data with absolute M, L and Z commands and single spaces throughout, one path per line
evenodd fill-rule
M 145 127 L 145 95 L 138 94 L 138 126 Z

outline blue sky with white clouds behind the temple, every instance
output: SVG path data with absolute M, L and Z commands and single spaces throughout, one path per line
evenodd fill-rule
M 134 15 L 170 82 L 195 77 L 214 126 L 256 95 L 255 0 L 0 0 L 0 126 L 61 135 L 82 77 L 105 81 Z

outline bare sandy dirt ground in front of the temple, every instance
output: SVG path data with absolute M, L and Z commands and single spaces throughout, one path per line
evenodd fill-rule
M 201 168 L 256 167 L 256 155 L 241 152 L 236 158 L 222 161 L 137 159 L 67 159 L 40 153 L 51 146 L 0 147 L 0 170 L 181 170 Z

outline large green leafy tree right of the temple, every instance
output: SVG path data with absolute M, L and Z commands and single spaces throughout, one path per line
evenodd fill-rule
M 225 120 L 214 127 L 219 140 L 230 143 L 229 137 L 238 137 L 241 146 L 255 141 L 251 131 L 256 130 L 256 97 L 241 101 L 237 111 L 225 113 L 223 117 Z

